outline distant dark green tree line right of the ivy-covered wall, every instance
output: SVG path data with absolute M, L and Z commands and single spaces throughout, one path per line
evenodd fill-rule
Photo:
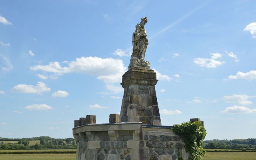
M 205 148 L 256 148 L 256 138 L 234 140 L 205 140 Z

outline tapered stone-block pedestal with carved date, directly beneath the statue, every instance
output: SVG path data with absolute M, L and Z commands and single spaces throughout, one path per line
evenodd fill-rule
M 131 68 L 122 78 L 124 97 L 120 122 L 161 125 L 156 98 L 156 72 L 148 68 Z

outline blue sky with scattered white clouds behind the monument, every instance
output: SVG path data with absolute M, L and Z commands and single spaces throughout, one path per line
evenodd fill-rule
M 206 139 L 256 138 L 256 1 L 2 0 L 0 136 L 72 137 L 121 109 L 140 18 L 162 125 L 204 120 Z

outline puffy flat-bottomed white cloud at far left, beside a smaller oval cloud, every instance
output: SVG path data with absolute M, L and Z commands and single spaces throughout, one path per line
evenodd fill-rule
M 41 94 L 42 92 L 48 92 L 51 90 L 51 88 L 48 88 L 46 84 L 43 82 L 37 82 L 36 86 L 34 85 L 27 85 L 27 84 L 18 84 L 17 86 L 14 86 L 12 88 L 15 92 L 21 92 L 21 93 L 37 93 Z

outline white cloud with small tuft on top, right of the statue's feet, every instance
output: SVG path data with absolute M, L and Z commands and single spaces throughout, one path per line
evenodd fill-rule
M 218 61 L 216 59 L 221 58 L 222 55 L 220 53 L 211 53 L 211 58 L 194 58 L 194 64 L 198 64 L 199 66 L 206 68 L 216 68 L 224 64 L 224 61 Z

